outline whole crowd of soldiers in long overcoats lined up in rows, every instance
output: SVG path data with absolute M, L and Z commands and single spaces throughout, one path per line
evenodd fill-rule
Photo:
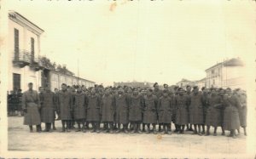
M 164 84 L 160 90 L 157 82 L 154 88 L 94 88 L 67 87 L 61 84 L 61 90 L 49 87 L 41 88 L 40 93 L 28 84 L 28 91 L 22 96 L 22 109 L 25 112 L 24 124 L 30 132 L 37 126 L 41 132 L 41 122 L 45 123 L 44 132 L 55 129 L 55 118 L 61 120 L 61 132 L 70 132 L 75 123 L 77 132 L 86 132 L 91 125 L 91 133 L 175 133 L 193 131 L 193 134 L 217 135 L 217 128 L 230 131 L 230 137 L 236 138 L 240 127 L 247 135 L 247 95 L 241 89 L 201 88 L 190 86 L 175 87 L 170 90 Z M 101 129 L 101 123 L 103 127 Z M 156 126 L 158 126 L 158 131 Z M 194 129 L 192 128 L 194 126 Z

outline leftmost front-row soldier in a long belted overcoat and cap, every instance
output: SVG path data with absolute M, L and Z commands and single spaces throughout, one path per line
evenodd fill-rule
M 22 109 L 25 112 L 24 125 L 28 125 L 32 133 L 32 126 L 37 126 L 37 132 L 40 133 L 40 99 L 38 92 L 33 90 L 33 83 L 28 83 L 28 90 L 22 95 Z

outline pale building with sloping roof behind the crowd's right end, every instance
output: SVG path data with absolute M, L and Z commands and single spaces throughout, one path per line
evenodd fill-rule
M 207 88 L 243 88 L 246 89 L 245 68 L 240 59 L 220 62 L 206 70 Z

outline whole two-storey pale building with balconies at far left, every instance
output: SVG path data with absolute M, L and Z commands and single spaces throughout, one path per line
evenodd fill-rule
M 41 70 L 38 69 L 40 36 L 43 29 L 21 14 L 9 12 L 8 91 L 27 89 L 28 82 L 38 89 L 41 85 Z

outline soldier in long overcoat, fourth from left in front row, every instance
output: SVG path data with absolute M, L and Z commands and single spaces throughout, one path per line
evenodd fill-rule
M 82 129 L 83 129 L 83 132 L 85 133 L 86 102 L 87 102 L 87 98 L 85 94 L 82 92 L 81 88 L 78 88 L 77 93 L 74 94 L 74 100 L 73 100 L 74 120 L 78 123 L 78 127 L 79 127 L 76 132 L 81 131 L 81 124 L 82 124 Z

